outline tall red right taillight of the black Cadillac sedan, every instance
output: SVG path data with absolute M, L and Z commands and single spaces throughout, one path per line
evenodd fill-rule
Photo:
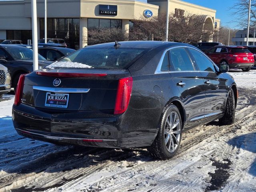
M 118 82 L 114 114 L 122 114 L 128 108 L 132 93 L 132 77 L 122 78 Z

